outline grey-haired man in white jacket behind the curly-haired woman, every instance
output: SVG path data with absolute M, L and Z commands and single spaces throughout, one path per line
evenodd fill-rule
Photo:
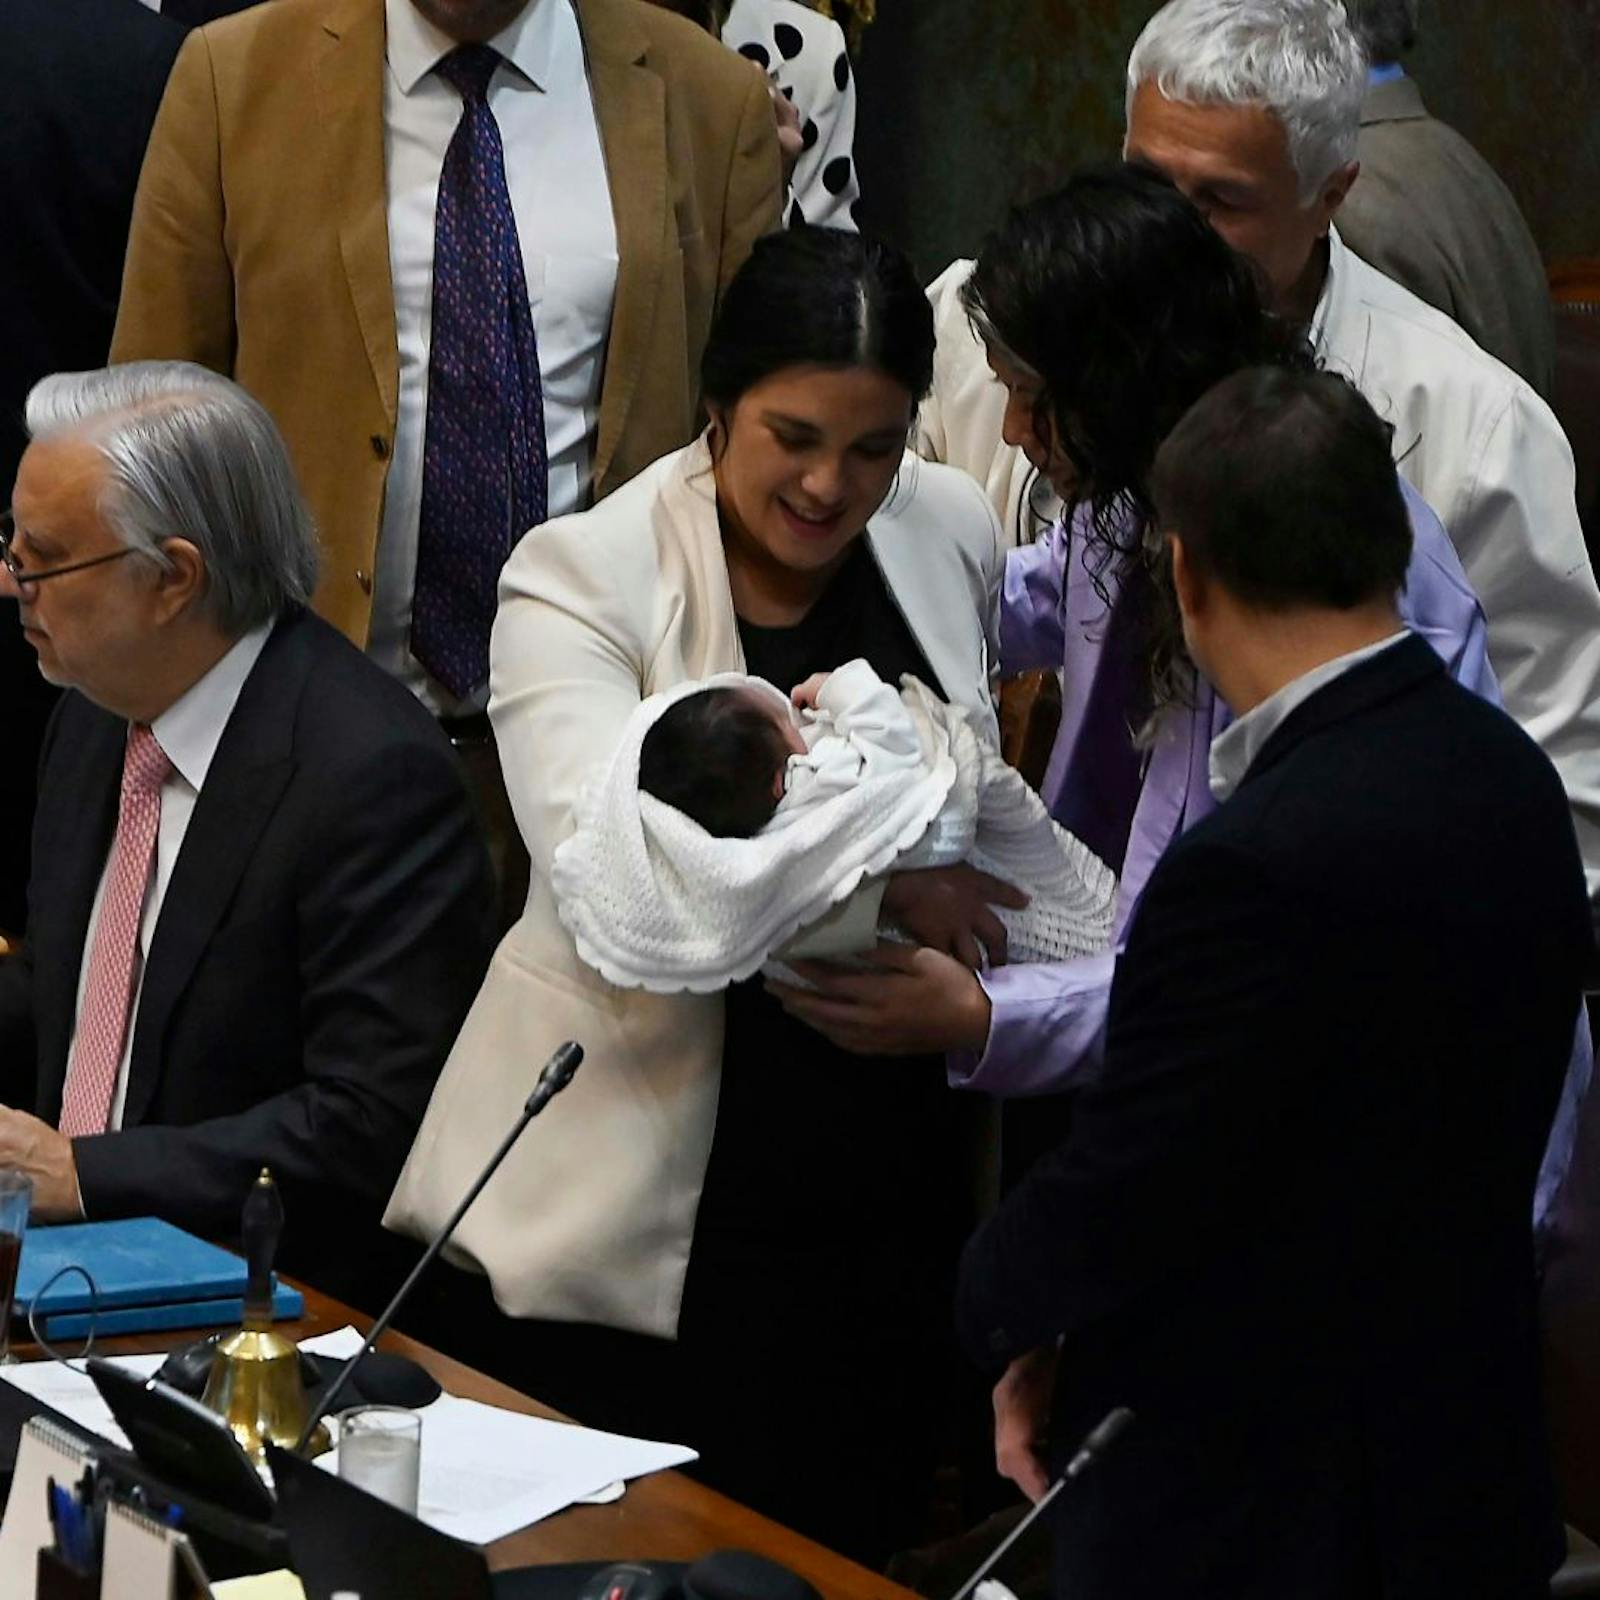
M 1600 901 L 1600 590 L 1549 406 L 1448 317 L 1354 256 L 1333 226 L 1357 181 L 1366 59 L 1338 0 L 1171 0 L 1128 58 L 1123 154 L 1165 173 L 1304 322 L 1322 362 L 1394 426 L 1395 462 L 1438 512 L 1483 602 L 1506 709 L 1555 765 Z M 923 450 L 986 480 L 1002 509 L 1022 469 L 1005 395 L 950 267 Z M 957 320 L 960 318 L 960 322 Z M 974 410 L 976 408 L 976 410 Z M 1013 510 L 1014 515 L 1014 510 Z

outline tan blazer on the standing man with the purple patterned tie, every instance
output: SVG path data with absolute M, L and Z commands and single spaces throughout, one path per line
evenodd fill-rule
M 618 285 L 595 493 L 696 427 L 722 288 L 778 224 L 752 62 L 643 0 L 576 0 Z M 274 414 L 323 541 L 317 610 L 371 618 L 400 389 L 384 197 L 382 0 L 274 0 L 192 34 L 139 179 L 112 360 L 182 357 Z

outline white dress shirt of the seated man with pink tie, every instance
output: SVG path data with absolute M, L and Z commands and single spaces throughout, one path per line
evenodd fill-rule
M 250 677 L 261 646 L 266 645 L 272 624 L 253 627 L 232 650 L 203 677 L 198 683 L 184 691 L 155 722 L 150 733 L 162 747 L 173 770 L 162 784 L 162 822 L 155 835 L 155 870 L 150 874 L 149 886 L 144 891 L 144 910 L 139 915 L 139 965 L 134 973 L 133 995 L 128 1000 L 128 1030 L 122 1040 L 122 1062 L 117 1066 L 117 1086 L 110 1098 L 110 1120 L 107 1128 L 122 1126 L 122 1107 L 128 1098 L 128 1059 L 133 1054 L 133 1032 L 139 1019 L 139 994 L 144 989 L 144 963 L 155 939 L 155 923 L 162 915 L 162 901 L 166 898 L 166 885 L 173 880 L 173 867 L 178 864 L 178 851 L 182 848 L 184 834 L 189 832 L 189 819 L 195 811 L 195 800 L 205 787 L 205 774 L 211 770 L 211 758 L 222 742 L 222 730 L 227 728 L 234 706 L 238 704 L 240 690 Z M 78 966 L 78 1000 L 75 1016 L 83 1014 L 83 990 L 90 976 L 90 950 L 94 946 L 94 928 L 99 923 L 101 901 L 106 896 L 106 875 L 110 870 L 110 851 L 106 851 L 106 866 L 101 867 L 99 886 L 94 890 L 94 906 L 90 910 L 88 933 L 83 941 L 83 960 Z M 72 1027 L 72 1045 L 77 1045 L 77 1022 Z M 67 1048 L 67 1062 L 72 1061 L 72 1046 Z

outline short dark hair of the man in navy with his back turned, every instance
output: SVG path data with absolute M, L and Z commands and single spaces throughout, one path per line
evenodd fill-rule
M 1266 611 L 1394 598 L 1411 518 L 1394 429 L 1336 373 L 1258 366 L 1203 395 L 1152 478 L 1162 533 L 1203 578 Z

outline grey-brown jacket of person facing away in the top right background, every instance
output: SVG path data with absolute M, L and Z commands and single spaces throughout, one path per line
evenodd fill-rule
M 1362 176 L 1339 206 L 1339 237 L 1363 261 L 1454 317 L 1490 355 L 1549 400 L 1555 317 L 1544 259 L 1512 192 L 1411 78 L 1362 104 Z

